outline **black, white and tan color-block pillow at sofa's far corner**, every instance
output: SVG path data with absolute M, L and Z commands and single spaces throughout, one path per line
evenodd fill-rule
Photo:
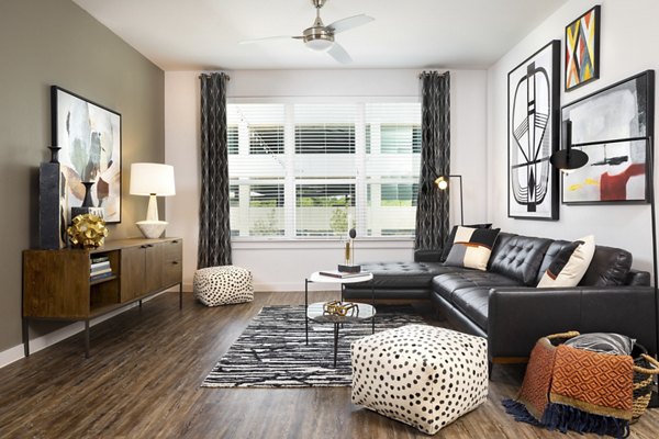
M 453 248 L 444 263 L 485 271 L 496 235 L 499 235 L 499 228 L 458 227 Z

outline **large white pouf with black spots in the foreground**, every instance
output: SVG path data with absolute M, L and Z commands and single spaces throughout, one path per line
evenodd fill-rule
M 350 346 L 353 403 L 434 435 L 488 397 L 482 337 L 407 325 Z

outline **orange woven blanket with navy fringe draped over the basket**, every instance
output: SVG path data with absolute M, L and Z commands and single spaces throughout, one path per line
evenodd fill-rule
M 517 398 L 503 405 L 515 420 L 550 430 L 625 438 L 633 409 L 633 367 L 629 356 L 556 347 L 540 338 Z

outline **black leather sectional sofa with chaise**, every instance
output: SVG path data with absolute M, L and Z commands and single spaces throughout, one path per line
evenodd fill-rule
M 432 301 L 457 329 L 487 337 L 495 363 L 525 361 L 538 338 L 566 330 L 625 334 L 655 352 L 650 275 L 632 269 L 628 251 L 596 246 L 578 286 L 535 288 L 568 244 L 500 233 L 488 271 L 447 267 L 428 252 L 362 268 L 373 273 L 378 301 Z M 344 296 L 370 299 L 370 284 L 346 284 Z

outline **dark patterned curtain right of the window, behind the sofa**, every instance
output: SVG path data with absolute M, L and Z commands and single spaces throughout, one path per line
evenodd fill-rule
M 448 190 L 435 187 L 450 173 L 450 77 L 448 71 L 421 75 L 421 176 L 416 204 L 416 250 L 440 250 L 448 236 Z

